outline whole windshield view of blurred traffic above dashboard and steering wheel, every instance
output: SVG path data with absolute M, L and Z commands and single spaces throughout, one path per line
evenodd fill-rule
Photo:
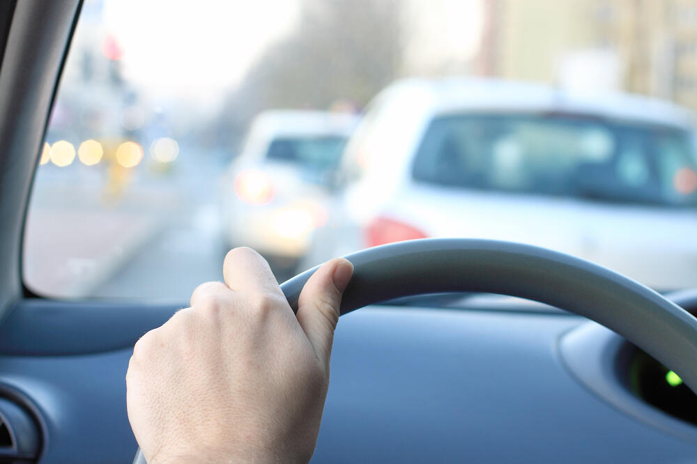
M 457 237 L 696 287 L 697 16 L 654 3 L 85 0 L 24 284 L 186 304 L 231 247 Z

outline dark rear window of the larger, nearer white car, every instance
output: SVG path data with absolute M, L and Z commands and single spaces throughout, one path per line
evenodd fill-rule
M 662 125 L 574 115 L 435 118 L 413 178 L 449 187 L 694 206 L 691 135 Z

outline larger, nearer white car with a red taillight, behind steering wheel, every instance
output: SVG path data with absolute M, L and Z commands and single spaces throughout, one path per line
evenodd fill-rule
M 668 102 L 620 93 L 397 82 L 348 142 L 344 201 L 305 264 L 412 238 L 488 238 L 557 249 L 659 290 L 696 286 L 693 123 Z

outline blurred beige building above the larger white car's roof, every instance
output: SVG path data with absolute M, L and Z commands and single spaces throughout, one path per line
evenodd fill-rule
M 482 75 L 618 88 L 697 109 L 697 0 L 483 0 Z

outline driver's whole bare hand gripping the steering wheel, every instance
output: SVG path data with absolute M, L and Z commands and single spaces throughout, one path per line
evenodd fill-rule
M 126 374 L 135 438 L 150 464 L 307 462 L 353 265 L 319 268 L 297 316 L 252 249 L 231 250 L 223 274 L 136 343 Z

